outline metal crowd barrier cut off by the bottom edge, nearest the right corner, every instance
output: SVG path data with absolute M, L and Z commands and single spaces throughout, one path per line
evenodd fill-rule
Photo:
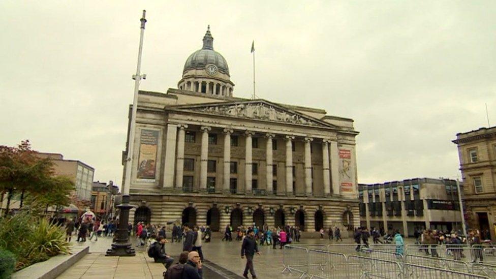
M 430 267 L 430 266 L 416 265 L 410 263 L 406 263 L 403 265 L 403 272 L 404 272 L 403 276 L 405 278 L 422 278 L 422 279 L 424 278 L 488 279 L 489 278 L 484 275 L 447 270 L 447 269 Z

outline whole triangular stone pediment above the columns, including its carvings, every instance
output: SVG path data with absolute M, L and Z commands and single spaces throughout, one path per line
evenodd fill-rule
M 265 100 L 222 102 L 168 107 L 169 110 L 225 115 L 237 118 L 284 122 L 303 126 L 334 128 L 330 123 Z

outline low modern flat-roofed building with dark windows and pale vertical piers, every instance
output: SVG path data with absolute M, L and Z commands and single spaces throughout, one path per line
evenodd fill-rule
M 412 178 L 359 184 L 360 224 L 413 236 L 426 228 L 461 229 L 458 188 L 452 179 Z

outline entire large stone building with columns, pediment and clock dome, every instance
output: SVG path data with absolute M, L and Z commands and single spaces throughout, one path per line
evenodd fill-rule
M 134 222 L 358 226 L 353 120 L 236 98 L 233 88 L 208 29 L 178 89 L 139 92 Z

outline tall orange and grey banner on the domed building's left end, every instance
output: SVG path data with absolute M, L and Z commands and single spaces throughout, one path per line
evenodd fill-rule
M 159 131 L 141 130 L 138 178 L 154 179 Z

